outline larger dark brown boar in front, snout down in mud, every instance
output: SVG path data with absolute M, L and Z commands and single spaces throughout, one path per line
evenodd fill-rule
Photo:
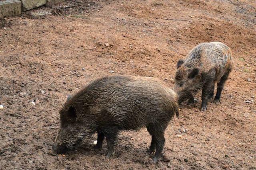
M 146 127 L 152 136 L 148 152 L 156 150 L 157 162 L 164 147 L 164 131 L 175 113 L 178 116 L 178 96 L 160 80 L 106 76 L 74 94 L 60 109 L 60 129 L 52 149 L 64 153 L 97 132 L 94 149 L 101 149 L 106 137 L 109 158 L 118 132 Z

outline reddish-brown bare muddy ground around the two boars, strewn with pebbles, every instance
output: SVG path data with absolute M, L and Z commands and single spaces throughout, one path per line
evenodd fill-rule
M 41 10 L 53 15 L 0 24 L 0 169 L 256 169 L 254 0 L 72 0 Z M 111 74 L 173 87 L 178 59 L 210 41 L 234 55 L 222 103 L 201 113 L 198 94 L 198 103 L 180 106 L 158 164 L 146 154 L 146 129 L 121 133 L 111 160 L 105 141 L 92 150 L 96 135 L 76 151 L 49 154 L 67 94 Z

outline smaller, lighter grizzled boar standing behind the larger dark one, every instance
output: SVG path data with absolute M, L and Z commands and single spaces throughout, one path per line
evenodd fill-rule
M 201 111 L 206 111 L 208 100 L 213 98 L 217 83 L 215 103 L 220 102 L 224 83 L 232 70 L 233 59 L 230 48 L 221 42 L 201 43 L 179 60 L 175 75 L 174 91 L 179 96 L 179 104 L 188 100 L 194 102 L 194 95 L 202 89 Z

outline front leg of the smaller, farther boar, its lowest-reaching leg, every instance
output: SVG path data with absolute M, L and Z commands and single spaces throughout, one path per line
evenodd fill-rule
M 212 89 L 214 89 L 214 82 L 213 80 L 208 80 L 208 82 L 204 85 L 202 90 L 202 105 L 201 111 L 207 110 L 207 103 L 210 98 L 212 98 Z

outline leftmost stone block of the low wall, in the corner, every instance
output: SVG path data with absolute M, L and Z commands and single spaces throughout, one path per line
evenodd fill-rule
M 21 13 L 20 0 L 0 1 L 0 18 L 18 16 Z

